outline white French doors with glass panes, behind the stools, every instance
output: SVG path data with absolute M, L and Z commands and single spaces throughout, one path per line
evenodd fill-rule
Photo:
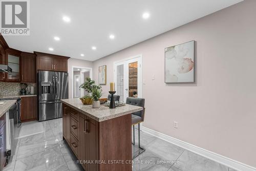
M 142 97 L 141 55 L 114 62 L 114 81 L 120 101 L 126 102 L 127 97 Z

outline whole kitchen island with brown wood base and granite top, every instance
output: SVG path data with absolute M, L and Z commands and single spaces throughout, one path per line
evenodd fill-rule
M 63 139 L 85 170 L 132 171 L 132 117 L 142 108 L 126 104 L 109 109 L 61 100 Z

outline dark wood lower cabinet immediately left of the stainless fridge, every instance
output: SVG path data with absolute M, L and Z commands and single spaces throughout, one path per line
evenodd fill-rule
M 20 120 L 22 122 L 32 121 L 37 119 L 36 113 L 36 96 L 22 97 L 22 105 L 20 108 Z

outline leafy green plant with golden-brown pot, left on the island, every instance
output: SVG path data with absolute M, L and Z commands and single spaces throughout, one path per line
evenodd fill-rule
M 101 90 L 101 86 L 96 85 L 95 81 L 92 80 L 91 78 L 86 78 L 86 81 L 81 84 L 80 88 L 86 90 L 89 95 L 83 96 L 80 98 L 83 104 L 92 104 L 93 103 L 93 98 L 92 98 L 92 91 L 93 89 L 98 89 Z

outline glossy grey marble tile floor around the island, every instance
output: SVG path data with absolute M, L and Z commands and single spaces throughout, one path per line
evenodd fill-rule
M 62 118 L 40 122 L 44 133 L 18 140 L 16 155 L 4 171 L 83 170 L 62 140 Z M 138 130 L 133 153 L 138 151 Z M 133 160 L 133 171 L 236 171 L 174 144 L 141 132 L 146 151 Z

